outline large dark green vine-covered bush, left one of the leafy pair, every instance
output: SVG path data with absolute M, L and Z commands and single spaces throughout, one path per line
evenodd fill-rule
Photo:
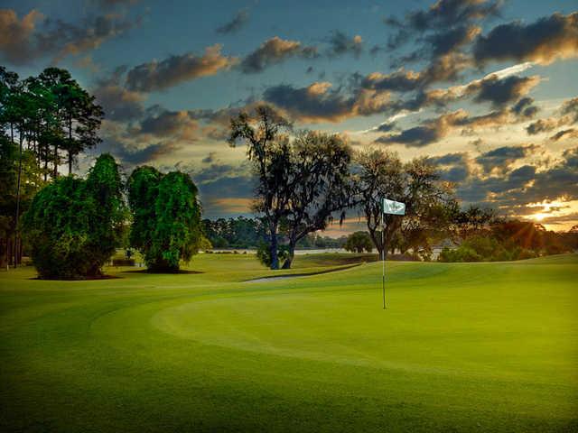
M 98 157 L 87 180 L 54 180 L 33 199 L 23 217 L 41 278 L 83 279 L 101 275 L 120 246 L 126 207 L 117 162 Z

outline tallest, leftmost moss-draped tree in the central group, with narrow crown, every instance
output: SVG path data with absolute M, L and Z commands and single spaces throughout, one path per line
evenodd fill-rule
M 257 180 L 254 209 L 263 214 L 271 269 L 279 269 L 278 229 L 289 200 L 289 139 L 283 133 L 290 128 L 271 107 L 258 106 L 252 115 L 242 112 L 231 118 L 228 137 L 231 146 L 247 143 L 247 157 Z

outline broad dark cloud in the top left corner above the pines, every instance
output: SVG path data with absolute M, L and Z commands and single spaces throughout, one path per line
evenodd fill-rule
M 122 14 L 90 16 L 80 23 L 52 20 L 37 10 L 19 19 L 14 10 L 0 10 L 0 56 L 15 65 L 51 56 L 57 63 L 98 48 L 139 25 L 140 18 L 127 19 Z

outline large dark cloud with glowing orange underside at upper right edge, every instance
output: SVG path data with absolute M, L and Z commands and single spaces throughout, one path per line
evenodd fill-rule
M 489 60 L 531 60 L 547 65 L 557 59 L 576 58 L 578 13 L 556 13 L 530 24 L 500 24 L 476 40 L 473 57 L 480 65 Z

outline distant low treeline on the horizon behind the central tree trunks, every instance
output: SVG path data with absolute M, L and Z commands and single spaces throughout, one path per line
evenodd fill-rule
M 266 242 L 266 229 L 259 218 L 218 218 L 202 220 L 203 233 L 213 248 L 258 249 Z M 284 234 L 280 234 L 284 242 Z M 304 236 L 297 248 L 341 248 L 347 236 L 333 238 L 316 233 Z

